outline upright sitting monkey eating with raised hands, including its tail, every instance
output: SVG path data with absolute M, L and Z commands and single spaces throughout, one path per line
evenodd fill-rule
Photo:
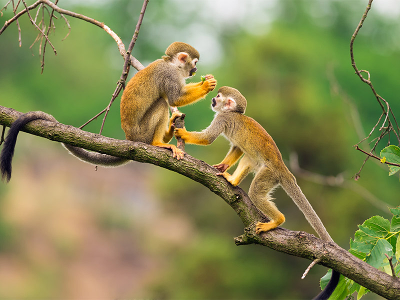
M 162 58 L 151 62 L 138 71 L 127 83 L 121 96 L 121 127 L 126 139 L 141 141 L 172 150 L 172 156 L 180 159 L 184 152 L 168 144 L 173 136 L 173 121 L 181 113 L 172 113 L 169 106 L 183 106 L 193 103 L 213 90 L 216 80 L 210 74 L 205 80 L 185 84 L 185 79 L 197 71 L 198 51 L 184 42 L 173 42 Z M 11 160 L 19 130 L 29 121 L 56 119 L 42 111 L 27 112 L 11 125 L 0 155 L 1 177 L 11 178 Z M 63 143 L 63 146 L 77 158 L 102 166 L 119 166 L 130 160 L 107 154 L 87 151 Z

